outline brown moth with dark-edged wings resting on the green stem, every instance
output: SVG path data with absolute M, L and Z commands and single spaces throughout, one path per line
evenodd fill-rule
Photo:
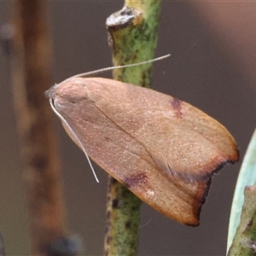
M 155 90 L 75 76 L 46 94 L 86 156 L 182 224 L 199 224 L 212 176 L 239 158 L 223 125 Z

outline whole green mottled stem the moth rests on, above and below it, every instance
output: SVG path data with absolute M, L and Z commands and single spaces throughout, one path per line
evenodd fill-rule
M 125 1 L 125 7 L 108 17 L 113 65 L 126 65 L 154 58 L 160 1 Z M 113 71 L 113 79 L 149 87 L 152 63 Z M 141 201 L 109 177 L 105 255 L 137 255 Z

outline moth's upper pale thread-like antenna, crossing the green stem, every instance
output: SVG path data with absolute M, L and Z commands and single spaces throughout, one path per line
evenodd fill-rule
M 115 66 L 115 67 L 104 67 L 104 68 L 101 68 L 101 69 L 98 69 L 98 70 L 94 70 L 94 71 L 90 71 L 90 72 L 86 72 L 86 73 L 79 73 L 69 79 L 73 79 L 73 78 L 84 78 L 84 77 L 88 77 L 92 74 L 96 74 L 96 73 L 102 73 L 102 72 L 105 72 L 105 71 L 109 71 L 109 70 L 113 70 L 113 69 L 118 69 L 118 68 L 123 68 L 123 67 L 135 67 L 135 66 L 139 66 L 139 65 L 143 65 L 143 64 L 147 64 L 147 63 L 150 63 L 150 62 L 154 62 L 154 61 L 160 61 L 160 60 L 163 60 L 163 59 L 166 59 L 168 57 L 170 57 L 171 54 L 168 54 L 168 55 L 163 55 L 163 56 L 160 56 L 158 58 L 155 58 L 155 59 L 152 59 L 152 60 L 149 60 L 149 61 L 142 61 L 142 62 L 137 62 L 137 63 L 132 63 L 132 64 L 128 64 L 128 65 L 124 65 L 124 66 Z

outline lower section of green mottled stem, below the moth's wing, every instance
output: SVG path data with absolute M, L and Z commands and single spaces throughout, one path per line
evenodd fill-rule
M 141 204 L 129 189 L 109 177 L 105 255 L 136 255 Z

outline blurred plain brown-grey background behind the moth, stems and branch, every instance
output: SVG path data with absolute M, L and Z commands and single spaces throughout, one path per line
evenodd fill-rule
M 0 3 L 0 25 L 12 19 L 12 4 Z M 56 83 L 111 66 L 105 20 L 122 1 L 49 2 Z M 256 119 L 256 3 L 163 2 L 153 88 L 201 108 L 236 138 L 241 160 Z M 106 76 L 109 76 L 108 74 Z M 9 59 L 0 55 L 0 232 L 9 255 L 29 253 L 22 160 L 16 135 Z M 49 87 L 52 84 L 49 84 Z M 101 255 L 107 174 L 97 184 L 84 154 L 55 118 L 62 156 L 67 225 L 79 234 L 84 255 Z M 96 165 L 95 165 L 96 166 Z M 201 225 L 177 224 L 143 204 L 139 255 L 224 255 L 230 204 L 241 161 L 214 178 Z

